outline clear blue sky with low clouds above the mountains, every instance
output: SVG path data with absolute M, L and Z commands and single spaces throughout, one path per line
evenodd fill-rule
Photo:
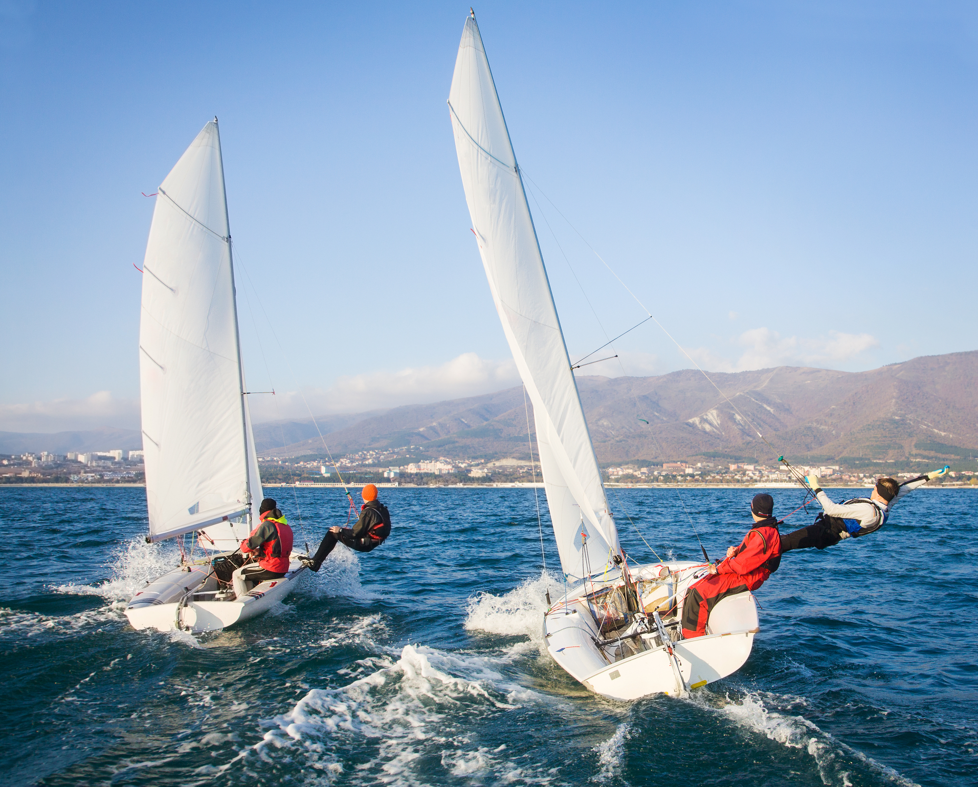
M 256 421 L 517 384 L 446 105 L 467 12 L 0 0 L 0 430 L 138 428 L 143 192 L 215 115 Z M 646 309 L 713 371 L 978 347 L 978 6 L 475 13 L 573 360 Z M 655 321 L 613 349 L 585 371 L 691 366 Z

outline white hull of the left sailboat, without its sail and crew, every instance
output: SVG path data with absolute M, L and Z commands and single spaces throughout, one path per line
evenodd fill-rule
M 289 595 L 295 580 L 306 570 L 296 559 L 297 555 L 292 553 L 289 571 L 284 577 L 262 582 L 253 588 L 236 572 L 234 591 L 223 598 L 206 564 L 182 565 L 137 593 L 126 607 L 126 617 L 134 629 L 192 634 L 226 629 L 260 615 Z

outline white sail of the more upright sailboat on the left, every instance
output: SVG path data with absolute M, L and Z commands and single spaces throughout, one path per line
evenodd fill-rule
M 150 537 L 212 525 L 211 538 L 230 541 L 247 535 L 261 483 L 243 395 L 216 120 L 158 192 L 139 331 Z

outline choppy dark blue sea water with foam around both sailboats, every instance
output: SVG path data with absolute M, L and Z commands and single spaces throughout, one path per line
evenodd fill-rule
M 297 543 L 346 518 L 335 490 L 270 491 Z M 699 559 L 690 518 L 720 556 L 756 491 L 610 502 L 635 558 L 652 556 L 626 514 L 663 557 Z M 589 693 L 541 650 L 543 594 L 561 587 L 543 495 L 550 575 L 531 489 L 382 492 L 394 529 L 380 549 L 337 548 L 272 613 L 195 640 L 122 613 L 176 559 L 143 543 L 144 490 L 0 487 L 16 566 L 0 599 L 0 782 L 978 781 L 971 491 L 917 491 L 867 538 L 785 556 L 739 672 L 688 701 L 633 703 Z M 801 499 L 773 493 L 780 515 Z

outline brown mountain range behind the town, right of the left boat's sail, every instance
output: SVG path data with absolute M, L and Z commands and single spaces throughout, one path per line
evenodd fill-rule
M 978 455 L 978 351 L 866 372 L 778 366 L 577 382 L 602 462 Z M 532 405 L 529 414 L 532 429 Z M 343 418 L 317 419 L 333 455 L 415 445 L 449 458 L 528 456 L 521 388 Z M 262 424 L 255 435 L 260 452 L 325 453 L 308 419 Z

